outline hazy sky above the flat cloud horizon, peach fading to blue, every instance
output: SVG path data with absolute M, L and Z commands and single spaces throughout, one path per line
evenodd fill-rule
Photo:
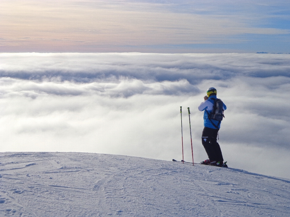
M 0 52 L 290 53 L 288 1 L 0 2 Z

